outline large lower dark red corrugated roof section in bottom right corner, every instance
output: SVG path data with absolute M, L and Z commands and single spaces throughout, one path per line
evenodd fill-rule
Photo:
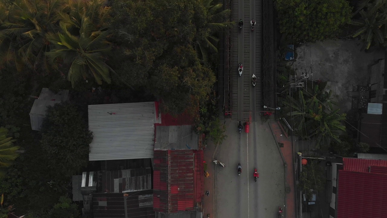
M 387 175 L 339 170 L 337 218 L 386 217 Z

